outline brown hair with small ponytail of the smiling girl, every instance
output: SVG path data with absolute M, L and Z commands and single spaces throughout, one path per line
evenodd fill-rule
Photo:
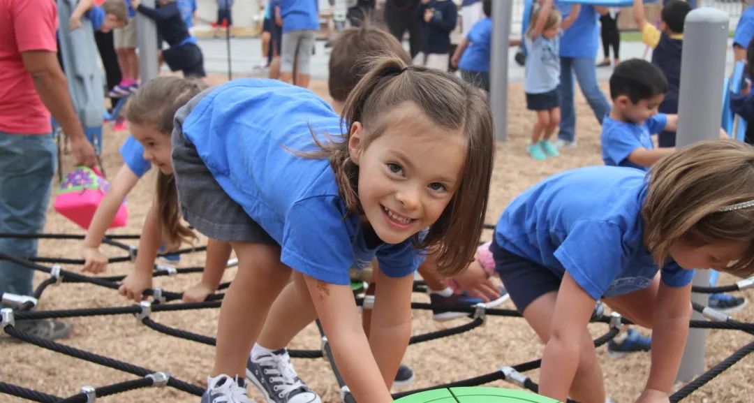
M 396 56 L 374 57 L 369 71 L 345 101 L 342 127 L 351 128 L 354 122 L 361 122 L 366 133 L 362 147 L 366 149 L 393 123 L 390 112 L 409 102 L 435 125 L 465 137 L 466 158 L 455 195 L 424 240 L 419 241 L 418 235 L 413 238 L 417 247 L 437 254 L 440 274 L 452 275 L 473 260 L 482 233 L 495 159 L 492 114 L 485 95 L 453 75 L 409 67 Z M 348 138 L 349 133 L 333 137 L 332 142 L 320 142 L 315 137 L 320 151 L 309 156 L 329 158 L 348 211 L 359 214 L 359 167 L 349 158 Z

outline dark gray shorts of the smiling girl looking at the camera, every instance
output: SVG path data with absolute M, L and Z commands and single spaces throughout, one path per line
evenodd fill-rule
M 183 219 L 207 237 L 218 241 L 277 242 L 252 220 L 224 190 L 199 157 L 196 147 L 183 135 L 182 122 L 199 101 L 209 94 L 205 90 L 176 112 L 173 122 L 173 174 L 178 188 L 178 205 Z

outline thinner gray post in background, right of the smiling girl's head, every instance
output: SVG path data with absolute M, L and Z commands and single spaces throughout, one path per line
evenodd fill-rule
M 508 38 L 513 0 L 492 2 L 492 54 L 489 63 L 489 106 L 495 120 L 495 140 L 507 140 Z

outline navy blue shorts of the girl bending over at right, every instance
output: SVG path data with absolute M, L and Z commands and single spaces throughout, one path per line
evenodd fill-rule
M 513 254 L 492 240 L 489 251 L 495 259 L 495 272 L 505 285 L 505 289 L 523 314 L 524 309 L 537 298 L 552 291 L 558 291 L 562 278 L 539 263 Z

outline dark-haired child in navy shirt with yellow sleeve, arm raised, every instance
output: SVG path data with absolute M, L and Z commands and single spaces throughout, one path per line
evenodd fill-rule
M 669 85 L 665 99 L 658 109 L 662 113 L 678 113 L 678 91 L 681 87 L 681 51 L 683 49 L 683 23 L 691 5 L 682 0 L 664 4 L 660 28 L 648 23 L 644 17 L 642 0 L 633 0 L 633 20 L 642 32 L 642 42 L 653 49 L 652 64 L 664 72 Z M 676 131 L 662 131 L 657 136 L 660 147 L 676 146 Z

